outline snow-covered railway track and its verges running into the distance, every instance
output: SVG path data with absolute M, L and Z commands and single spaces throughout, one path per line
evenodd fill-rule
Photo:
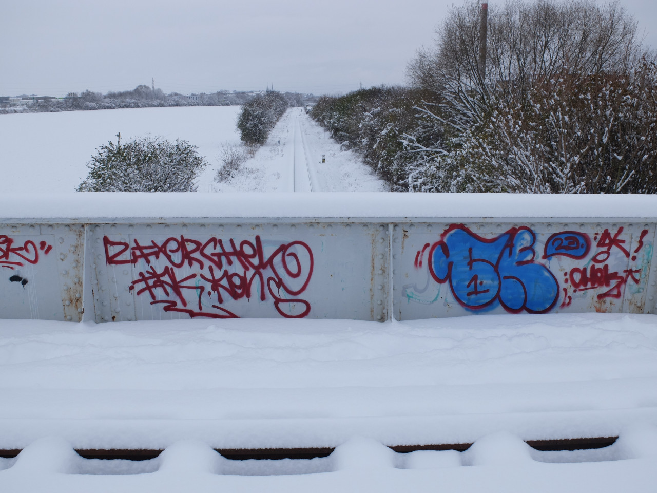
M 279 145 L 280 141 L 280 145 Z M 322 162 L 325 156 L 325 162 Z M 307 171 L 306 168 L 307 162 Z M 309 176 L 308 176 L 309 175 Z M 222 192 L 381 192 L 386 183 L 351 151 L 344 151 L 302 108 L 289 108 L 267 143 L 242 171 L 224 183 L 214 174 L 200 177 L 200 191 Z M 310 181 L 310 186 L 308 181 Z

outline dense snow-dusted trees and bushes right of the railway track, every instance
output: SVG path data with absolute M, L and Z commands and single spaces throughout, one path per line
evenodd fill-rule
M 657 193 L 657 66 L 618 2 L 452 7 L 408 87 L 311 114 L 395 191 Z

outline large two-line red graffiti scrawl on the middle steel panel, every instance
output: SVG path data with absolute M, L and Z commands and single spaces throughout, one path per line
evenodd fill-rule
M 136 288 L 137 296 L 148 294 L 151 304 L 162 304 L 166 312 L 232 318 L 237 315 L 221 304 L 227 298 L 250 300 L 253 296 L 261 301 L 269 297 L 277 312 L 287 318 L 305 317 L 311 309 L 307 300 L 296 297 L 306 291 L 313 272 L 312 250 L 302 241 L 279 245 L 266 257 L 260 236 L 253 242 L 243 240 L 239 245 L 235 239 L 224 242 L 215 237 L 204 243 L 184 236 L 170 237 L 144 245 L 134 239 L 132 247 L 124 241 L 104 237 L 104 248 L 108 265 L 139 261 L 147 264 L 147 270 L 139 272 L 129 290 L 133 292 Z M 164 262 L 165 266 L 160 269 L 153 262 L 158 262 L 158 266 Z M 176 271 L 180 268 L 187 272 L 181 279 Z M 190 268 L 196 272 L 189 273 Z M 216 311 L 204 308 L 212 300 L 216 304 L 210 306 Z M 286 304 L 299 305 L 302 310 L 294 308 L 290 313 L 285 310 Z

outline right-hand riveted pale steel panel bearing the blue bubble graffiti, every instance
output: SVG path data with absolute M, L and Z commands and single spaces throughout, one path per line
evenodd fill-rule
M 394 231 L 398 319 L 654 306 L 654 223 L 402 223 Z

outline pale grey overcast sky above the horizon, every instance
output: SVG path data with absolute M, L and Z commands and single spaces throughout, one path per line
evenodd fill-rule
M 454 2 L 461 5 L 461 1 Z M 500 2 L 501 3 L 501 2 Z M 265 89 L 344 93 L 403 83 L 442 0 L 25 0 L 0 7 L 0 95 Z M 493 4 L 493 2 L 489 2 Z M 652 0 L 623 2 L 657 47 Z

